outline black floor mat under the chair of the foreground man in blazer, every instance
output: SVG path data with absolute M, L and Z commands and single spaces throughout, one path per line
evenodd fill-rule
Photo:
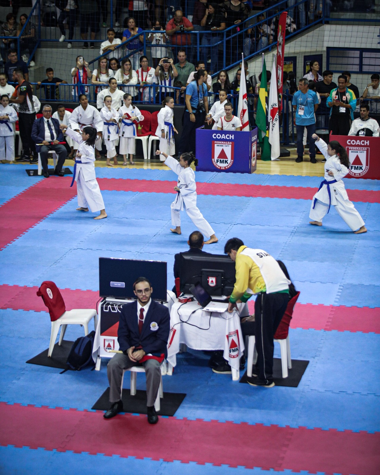
M 111 407 L 109 394 L 110 389 L 107 388 L 91 409 L 108 410 Z M 157 414 L 160 416 L 174 416 L 185 396 L 184 393 L 164 391 L 163 398 L 160 401 L 161 409 Z M 122 401 L 123 412 L 146 414 L 146 391 L 136 390 L 135 396 L 131 396 L 131 391 L 128 388 L 123 388 Z

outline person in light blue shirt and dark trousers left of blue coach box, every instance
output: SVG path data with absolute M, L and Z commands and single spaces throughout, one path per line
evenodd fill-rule
M 207 102 L 207 71 L 199 69 L 194 80 L 186 87 L 186 110 L 183 114 L 183 129 L 180 139 L 179 156 L 185 152 L 195 153 L 195 130 L 204 123 L 209 113 Z

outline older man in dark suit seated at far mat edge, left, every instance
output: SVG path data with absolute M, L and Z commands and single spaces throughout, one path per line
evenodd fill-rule
M 47 169 L 47 152 L 54 150 L 58 155 L 58 162 L 54 171 L 55 175 L 59 177 L 64 176 L 62 171 L 65 163 L 67 152 L 64 145 L 59 142 L 65 142 L 62 131 L 59 128 L 57 119 L 51 117 L 52 110 L 50 105 L 44 105 L 42 108 L 42 115 L 35 120 L 32 127 L 32 140 L 35 143 L 43 143 L 43 145 L 36 145 L 36 152 L 39 152 L 42 164 L 42 173 L 45 178 L 49 178 Z M 51 143 L 53 144 L 51 145 Z

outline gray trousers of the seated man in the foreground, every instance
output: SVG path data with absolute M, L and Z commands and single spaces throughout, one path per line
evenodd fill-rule
M 147 360 L 143 363 L 131 361 L 124 353 L 116 353 L 107 365 L 107 376 L 110 383 L 110 402 L 120 401 L 123 370 L 131 366 L 143 366 L 146 376 L 146 397 L 148 407 L 154 406 L 161 381 L 161 368 L 157 360 Z

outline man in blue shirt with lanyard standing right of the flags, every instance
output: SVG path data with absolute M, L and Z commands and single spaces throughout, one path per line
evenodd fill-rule
M 309 141 L 309 152 L 311 163 L 315 160 L 315 142 L 312 138 L 315 133 L 315 116 L 314 113 L 318 108 L 318 97 L 314 91 L 309 91 L 309 81 L 301 77 L 298 82 L 298 91 L 293 95 L 293 108 L 295 109 L 295 126 L 297 130 L 297 158 L 295 161 L 299 163 L 304 161 L 304 128 L 307 130 L 307 139 Z

